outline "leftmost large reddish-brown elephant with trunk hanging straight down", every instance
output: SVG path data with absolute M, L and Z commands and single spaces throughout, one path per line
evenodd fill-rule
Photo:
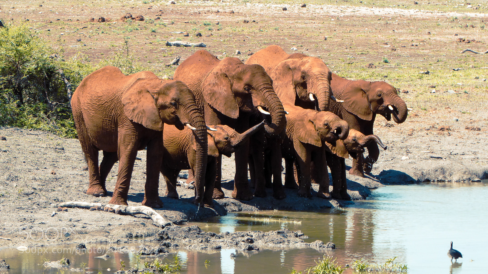
M 144 71 L 125 76 L 116 67 L 103 67 L 85 77 L 71 99 L 81 148 L 88 163 L 87 194 L 105 196 L 105 179 L 119 160 L 111 204 L 127 205 L 127 194 L 137 151 L 147 147 L 145 194 L 142 205 L 163 206 L 158 195 L 163 158 L 163 125 L 191 127 L 197 139 L 196 181 L 204 180 L 207 130 L 202 111 L 187 85 L 163 80 Z M 103 151 L 98 166 L 98 152 Z M 201 203 L 203 193 L 195 202 Z

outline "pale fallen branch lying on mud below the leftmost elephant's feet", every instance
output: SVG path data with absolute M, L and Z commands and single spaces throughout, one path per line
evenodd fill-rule
M 115 212 L 116 214 L 121 215 L 137 215 L 143 214 L 148 216 L 153 220 L 153 224 L 159 227 L 165 227 L 173 225 L 170 221 L 163 218 L 163 216 L 159 215 L 156 211 L 152 208 L 147 206 L 125 206 L 125 205 L 114 205 L 114 204 L 102 204 L 102 203 L 87 203 L 87 202 L 80 202 L 80 201 L 70 201 L 70 202 L 62 202 L 59 204 L 51 204 L 55 207 L 69 207 L 69 208 L 86 208 L 92 209 L 95 208 L 97 210 L 103 211 L 110 211 Z

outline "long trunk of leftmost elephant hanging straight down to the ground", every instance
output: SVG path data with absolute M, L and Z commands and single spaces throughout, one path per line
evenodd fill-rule
M 190 103 L 183 109 L 189 113 L 189 122 L 195 128 L 192 132 L 195 136 L 197 156 L 193 173 L 195 178 L 195 203 L 200 205 L 203 202 L 205 172 L 207 169 L 207 128 L 202 111 L 195 103 Z

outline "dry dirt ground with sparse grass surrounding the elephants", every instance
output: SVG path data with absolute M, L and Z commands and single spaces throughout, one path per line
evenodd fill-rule
M 169 77 L 176 66 L 166 67 L 166 63 L 176 56 L 183 60 L 200 48 L 166 47 L 167 40 L 203 42 L 206 50 L 220 58 L 236 56 L 244 60 L 248 52 L 267 45 L 279 44 L 289 53 L 294 47 L 298 52 L 320 56 L 342 76 L 392 83 L 414 108 L 403 124 L 377 117 L 374 132 L 388 149 L 380 153 L 372 176 L 347 175 L 348 193 L 355 199 L 366 198 L 370 188 L 384 184 L 488 178 L 487 57 L 460 54 L 469 47 L 479 52 L 488 50 L 486 7 L 477 3 L 471 3 L 471 8 L 445 7 L 440 1 L 420 2 L 418 6 L 408 1 L 405 7 L 406 1 L 398 2 L 402 8 L 373 8 L 369 3 L 352 7 L 346 1 L 339 3 L 342 6 L 325 1 L 301 8 L 292 2 L 276 5 L 225 0 L 176 4 L 20 0 L 1 3 L 0 19 L 6 23 L 28 19 L 33 29 L 53 46 L 62 48 L 65 56 L 93 63 L 112 56 L 128 37 L 132 58 L 158 75 Z M 435 11 L 437 7 L 439 11 Z M 134 17 L 143 15 L 145 20 L 121 21 L 127 12 Z M 105 22 L 98 22 L 100 17 Z M 188 32 L 189 37 L 175 32 Z M 197 37 L 197 32 L 202 37 Z M 458 42 L 458 38 L 465 41 Z M 242 54 L 236 55 L 236 50 Z M 427 70 L 429 74 L 419 74 Z M 51 203 L 106 203 L 110 199 L 83 193 L 88 178 L 79 141 L 19 128 L 0 128 L 0 136 L 6 139 L 0 140 L 0 246 L 122 243 L 157 235 L 159 228 L 140 216 L 84 209 L 51 216 L 56 210 Z M 143 198 L 145 152 L 138 157 L 129 205 L 140 205 Z M 350 166 L 350 159 L 346 164 Z M 231 158 L 224 157 L 223 169 L 228 197 L 233 187 Z M 114 166 L 107 181 L 109 191 L 114 188 L 116 171 Z M 162 182 L 161 177 L 160 196 L 165 192 Z M 301 198 L 294 190 L 286 190 L 287 198 L 276 200 L 268 190 L 267 198 L 248 202 L 224 198 L 215 202 L 215 210 L 197 211 L 189 203 L 193 190 L 179 187 L 178 192 L 179 200 L 162 196 L 164 208 L 158 212 L 180 225 L 227 211 L 313 211 L 348 204 Z

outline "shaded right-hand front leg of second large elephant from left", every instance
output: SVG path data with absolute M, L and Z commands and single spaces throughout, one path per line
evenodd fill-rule
M 247 159 L 249 156 L 249 141 L 241 144 L 241 147 L 234 152 L 236 159 L 236 174 L 234 176 L 234 191 L 232 197 L 240 200 L 252 199 L 252 193 L 247 181 Z

